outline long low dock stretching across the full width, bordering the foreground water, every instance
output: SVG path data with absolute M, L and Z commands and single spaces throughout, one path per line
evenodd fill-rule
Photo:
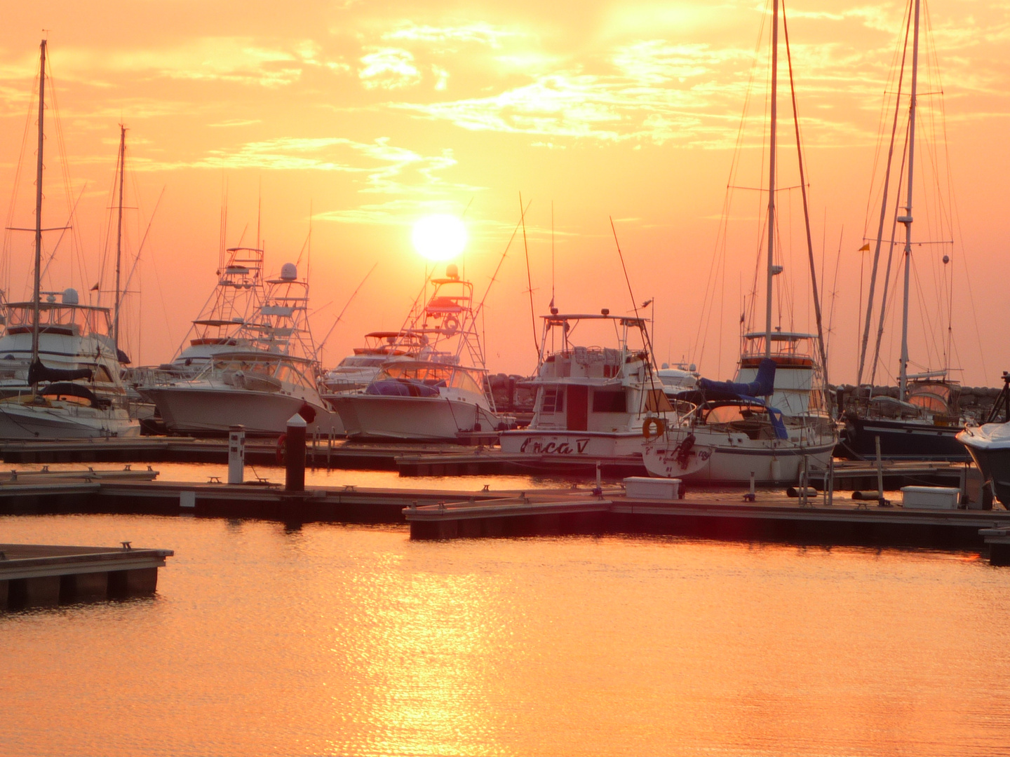
M 1005 510 L 881 507 L 876 501 L 837 493 L 828 504 L 822 493 L 804 502 L 780 490 L 759 490 L 753 502 L 744 501 L 743 491 L 728 489 L 690 489 L 678 500 L 629 497 L 621 486 L 528 492 L 484 486 L 460 492 L 345 485 L 287 492 L 266 481 L 192 483 L 124 475 L 137 471 L 104 476 L 74 472 L 79 477 L 46 479 L 38 474 L 28 480 L 30 476 L 18 474 L 16 481 L 0 481 L 0 515 L 105 513 L 257 518 L 295 525 L 406 524 L 413 539 L 669 534 L 980 551 L 987 549 L 980 529 L 1010 529 L 1010 512 Z

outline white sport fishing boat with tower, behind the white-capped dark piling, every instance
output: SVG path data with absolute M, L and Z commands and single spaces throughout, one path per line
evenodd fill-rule
M 283 434 L 295 413 L 309 433 L 339 434 L 339 418 L 319 396 L 315 347 L 309 330 L 308 282 L 285 263 L 259 308 L 218 344 L 193 376 L 168 375 L 140 388 L 170 431 L 197 435 Z

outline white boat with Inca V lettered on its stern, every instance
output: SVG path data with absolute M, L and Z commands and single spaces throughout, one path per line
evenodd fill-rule
M 542 318 L 536 375 L 529 382 L 536 388 L 533 418 L 525 429 L 502 432 L 502 452 L 529 455 L 531 464 L 564 458 L 640 469 L 649 434 L 678 422 L 649 358 L 645 320 L 607 309 L 561 314 L 557 308 Z M 617 346 L 576 344 L 580 336 L 598 338 L 583 334 L 590 324 L 616 334 Z

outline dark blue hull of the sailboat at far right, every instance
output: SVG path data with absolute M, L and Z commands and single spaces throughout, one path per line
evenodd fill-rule
M 845 430 L 838 444 L 838 456 L 855 459 L 877 457 L 877 437 L 881 457 L 889 460 L 967 461 L 971 457 L 954 438 L 957 426 L 934 426 L 922 421 L 889 421 L 845 418 Z

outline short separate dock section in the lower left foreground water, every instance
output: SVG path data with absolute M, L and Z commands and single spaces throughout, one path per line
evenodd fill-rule
M 0 544 L 0 610 L 154 593 L 171 549 Z

